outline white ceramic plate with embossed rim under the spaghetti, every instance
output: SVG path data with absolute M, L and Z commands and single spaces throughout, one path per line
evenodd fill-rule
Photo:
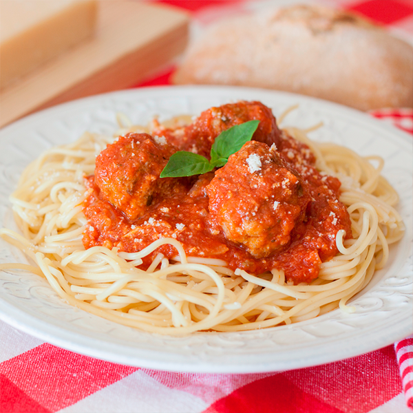
M 366 114 L 294 94 L 238 87 L 160 87 L 103 94 L 47 109 L 0 131 L 0 219 L 15 229 L 8 195 L 23 167 L 54 145 L 83 131 L 112 134 L 116 112 L 134 123 L 153 115 L 200 114 L 231 100 L 261 100 L 275 115 L 299 103 L 285 125 L 324 127 L 310 134 L 385 158 L 384 175 L 401 195 L 406 225 L 390 262 L 352 300 L 357 312 L 332 311 L 290 326 L 234 333 L 197 333 L 174 338 L 114 324 L 63 303 L 30 273 L 0 272 L 0 318 L 31 335 L 109 361 L 190 372 L 266 372 L 315 366 L 376 350 L 412 333 L 412 137 Z M 26 262 L 0 242 L 0 262 Z

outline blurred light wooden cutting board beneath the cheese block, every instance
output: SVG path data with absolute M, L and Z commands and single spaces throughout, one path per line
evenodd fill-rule
M 1 91 L 0 127 L 67 100 L 139 83 L 184 50 L 188 28 L 188 14 L 176 8 L 100 1 L 93 39 Z

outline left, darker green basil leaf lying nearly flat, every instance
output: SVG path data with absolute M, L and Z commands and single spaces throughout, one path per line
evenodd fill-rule
M 187 151 L 178 151 L 169 158 L 167 166 L 160 173 L 160 178 L 200 175 L 212 171 L 212 169 L 213 166 L 204 156 Z

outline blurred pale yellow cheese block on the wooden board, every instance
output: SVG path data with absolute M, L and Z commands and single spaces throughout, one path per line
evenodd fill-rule
M 1 0 L 0 89 L 87 39 L 96 0 Z

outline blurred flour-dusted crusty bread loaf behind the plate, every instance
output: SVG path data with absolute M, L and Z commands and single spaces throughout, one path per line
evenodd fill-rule
M 413 107 L 413 47 L 348 12 L 292 6 L 211 26 L 173 82 L 266 87 L 361 110 Z

